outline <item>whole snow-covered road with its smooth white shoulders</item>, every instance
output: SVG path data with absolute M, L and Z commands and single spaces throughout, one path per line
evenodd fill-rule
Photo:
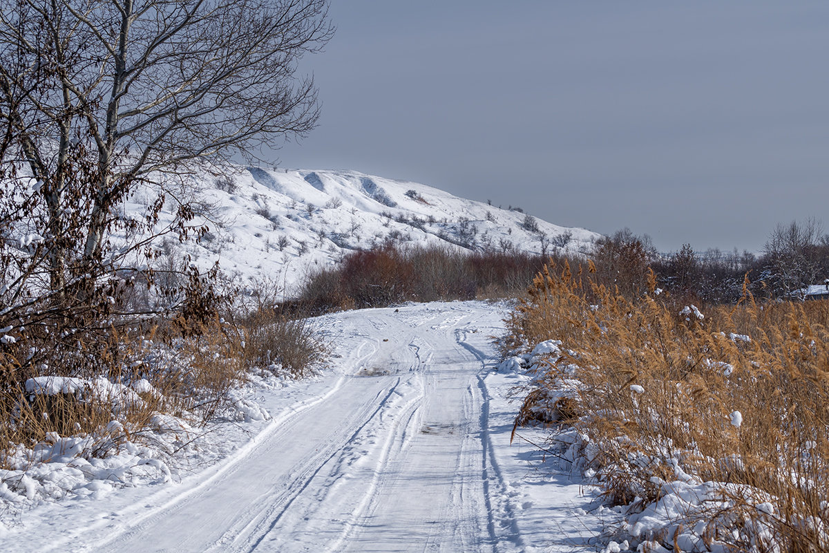
M 502 316 L 473 302 L 321 318 L 337 357 L 252 392 L 270 420 L 215 429 L 172 483 L 7 518 L 2 550 L 596 551 L 592 489 L 510 444 L 521 376 L 497 371 Z

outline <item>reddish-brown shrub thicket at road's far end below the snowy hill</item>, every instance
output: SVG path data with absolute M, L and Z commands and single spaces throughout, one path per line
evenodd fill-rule
M 515 296 L 545 258 L 521 252 L 384 245 L 347 255 L 303 284 L 298 303 L 314 312 L 406 301 Z

